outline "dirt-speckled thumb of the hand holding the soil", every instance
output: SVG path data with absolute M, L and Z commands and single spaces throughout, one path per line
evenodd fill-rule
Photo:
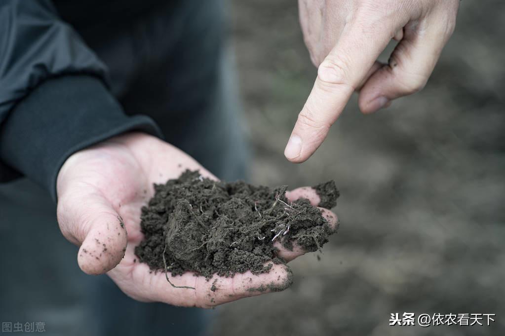
M 58 200 L 58 223 L 65 238 L 80 245 L 77 261 L 87 274 L 102 274 L 123 258 L 127 233 L 122 218 L 99 193 L 72 190 Z

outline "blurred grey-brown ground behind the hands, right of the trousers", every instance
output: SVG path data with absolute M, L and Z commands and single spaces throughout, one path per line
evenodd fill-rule
M 335 179 L 340 232 L 282 293 L 218 309 L 214 334 L 505 334 L 505 3 L 461 3 L 426 88 L 363 116 L 356 97 L 306 163 L 283 157 L 316 69 L 296 1 L 233 1 L 252 182 Z M 384 55 L 383 61 L 387 60 Z M 495 313 L 490 327 L 390 327 L 392 312 Z

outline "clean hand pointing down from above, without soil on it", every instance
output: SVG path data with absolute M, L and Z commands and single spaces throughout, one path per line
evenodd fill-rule
M 307 160 L 353 91 L 363 113 L 421 90 L 456 24 L 459 0 L 299 0 L 304 39 L 319 67 L 284 155 Z M 388 64 L 376 62 L 391 38 Z

